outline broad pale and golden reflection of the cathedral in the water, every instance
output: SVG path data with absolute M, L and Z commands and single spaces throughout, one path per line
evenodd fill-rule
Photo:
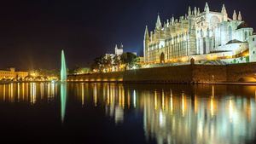
M 144 99 L 145 135 L 154 137 L 158 144 L 236 144 L 256 134 L 253 97 L 215 97 L 212 86 L 209 97 L 162 91 Z

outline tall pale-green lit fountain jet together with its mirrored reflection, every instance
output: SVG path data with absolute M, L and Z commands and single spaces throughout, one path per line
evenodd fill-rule
M 64 50 L 61 50 L 61 122 L 63 123 L 67 101 L 67 68 Z

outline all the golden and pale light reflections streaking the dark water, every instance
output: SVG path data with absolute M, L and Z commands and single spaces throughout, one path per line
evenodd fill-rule
M 83 110 L 102 110 L 106 119 L 119 126 L 141 116 L 145 139 L 159 144 L 255 140 L 256 86 L 0 84 L 0 102 L 27 102 L 33 107 L 40 101 L 55 101 L 58 88 L 61 122 L 68 117 L 67 102 L 73 102 Z

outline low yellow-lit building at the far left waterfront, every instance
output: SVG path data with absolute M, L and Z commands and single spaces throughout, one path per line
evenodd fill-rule
M 26 78 L 28 72 L 15 72 L 15 68 L 11 67 L 8 70 L 0 70 L 0 80 L 3 79 L 15 79 L 15 78 Z

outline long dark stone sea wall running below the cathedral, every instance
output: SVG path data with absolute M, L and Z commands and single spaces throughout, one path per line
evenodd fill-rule
M 256 63 L 185 65 L 143 68 L 125 72 L 70 75 L 68 81 L 124 83 L 223 83 L 256 82 Z

